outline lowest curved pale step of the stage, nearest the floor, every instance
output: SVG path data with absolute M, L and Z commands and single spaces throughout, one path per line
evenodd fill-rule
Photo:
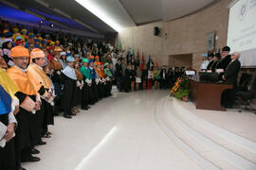
M 210 138 L 198 132 L 196 129 L 188 126 L 175 115 L 174 107 L 170 109 L 170 101 L 166 98 L 162 100 L 163 110 L 157 110 L 156 114 L 160 122 L 174 133 L 180 141 L 187 144 L 192 150 L 197 152 L 202 158 L 210 161 L 215 168 L 220 169 L 256 169 L 256 165 L 251 161 L 240 157 L 239 155 L 229 151 L 225 146 L 216 144 Z M 179 110 L 180 112 L 180 110 Z M 198 122 L 197 124 L 200 124 Z M 163 125 L 162 125 L 163 126 Z M 206 168 L 209 169 L 209 168 Z

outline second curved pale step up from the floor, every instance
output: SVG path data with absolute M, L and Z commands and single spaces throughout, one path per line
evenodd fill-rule
M 172 100 L 170 97 L 166 98 L 166 101 L 170 100 Z M 256 163 L 256 143 L 205 121 L 193 114 L 192 110 L 184 108 L 181 102 L 173 98 L 172 102 L 170 102 L 172 105 L 167 105 L 167 107 L 169 110 L 174 110 L 172 113 L 182 122 L 210 138 L 216 144 L 220 144 L 248 161 Z

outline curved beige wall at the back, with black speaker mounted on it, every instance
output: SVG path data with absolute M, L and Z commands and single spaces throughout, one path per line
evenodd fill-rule
M 145 26 L 126 28 L 119 32 L 119 41 L 146 56 L 150 54 L 159 65 L 169 63 L 172 55 L 192 53 L 192 67 L 199 69 L 201 54 L 206 53 L 207 33 L 215 31 L 218 40 L 215 47 L 226 45 L 229 22 L 230 0 L 219 2 L 192 15 Z M 161 35 L 154 36 L 154 27 L 161 28 Z M 167 33 L 167 35 L 165 35 Z

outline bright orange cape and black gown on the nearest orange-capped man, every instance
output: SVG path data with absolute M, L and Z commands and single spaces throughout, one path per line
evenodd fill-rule
M 31 110 L 35 106 L 37 92 L 29 81 L 27 74 L 21 69 L 14 66 L 10 67 L 7 74 L 18 87 L 15 96 L 20 101 L 20 110 L 16 114 L 19 125 L 15 130 L 15 155 L 17 167 L 19 167 L 21 159 L 26 159 L 26 156 L 29 157 L 29 147 L 39 139 L 35 122 L 31 119 Z

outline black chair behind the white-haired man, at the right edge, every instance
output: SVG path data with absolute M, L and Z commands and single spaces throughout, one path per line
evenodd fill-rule
M 240 78 L 239 86 L 235 92 L 235 105 L 240 109 L 239 112 L 242 112 L 242 109 L 255 111 L 249 107 L 250 100 L 254 97 L 253 92 L 249 88 L 251 79 L 252 75 L 248 75 L 247 73 L 243 73 Z

